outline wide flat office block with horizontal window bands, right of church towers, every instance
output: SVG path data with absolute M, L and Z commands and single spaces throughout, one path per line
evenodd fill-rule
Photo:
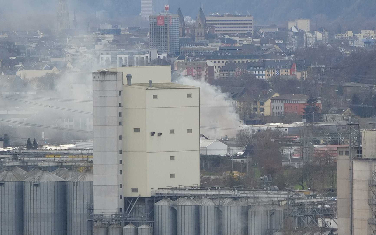
M 209 15 L 206 24 L 214 26 L 214 33 L 253 35 L 255 24 L 252 15 Z

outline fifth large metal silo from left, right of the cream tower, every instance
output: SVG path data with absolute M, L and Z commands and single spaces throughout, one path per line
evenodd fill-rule
M 269 211 L 264 206 L 253 206 L 248 210 L 248 235 L 267 235 Z

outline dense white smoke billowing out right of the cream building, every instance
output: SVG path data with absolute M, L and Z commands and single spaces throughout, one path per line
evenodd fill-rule
M 240 118 L 228 94 L 204 81 L 180 77 L 176 81 L 200 87 L 200 133 L 210 139 L 234 137 L 240 129 Z

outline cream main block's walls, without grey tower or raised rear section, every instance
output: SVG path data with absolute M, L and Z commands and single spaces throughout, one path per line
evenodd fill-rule
M 126 197 L 150 197 L 158 188 L 199 184 L 199 88 L 146 88 L 123 88 Z M 187 98 L 187 93 L 192 98 Z M 158 95 L 158 99 L 153 99 L 153 95 Z M 139 132 L 134 132 L 134 128 L 139 128 Z M 170 129 L 174 129 L 174 134 L 170 134 Z M 192 133 L 187 133 L 187 129 L 192 129 Z M 151 136 L 151 132 L 155 135 Z M 170 178 L 170 174 L 175 177 Z M 137 192 L 132 193 L 132 188 L 137 188 Z

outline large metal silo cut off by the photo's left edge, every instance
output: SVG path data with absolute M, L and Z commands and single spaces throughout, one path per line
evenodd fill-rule
M 0 234 L 23 234 L 23 180 L 15 171 L 0 174 Z

